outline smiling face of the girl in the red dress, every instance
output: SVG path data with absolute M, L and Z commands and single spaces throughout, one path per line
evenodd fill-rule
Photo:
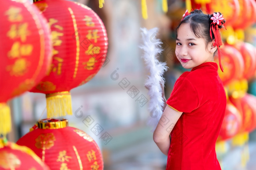
M 185 69 L 192 69 L 204 62 L 213 61 L 212 43 L 197 38 L 190 29 L 189 23 L 181 24 L 177 30 L 175 54 Z

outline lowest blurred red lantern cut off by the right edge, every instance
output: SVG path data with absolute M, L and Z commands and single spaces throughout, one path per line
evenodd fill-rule
M 255 96 L 246 93 L 241 98 L 230 97 L 230 101 L 242 113 L 242 132 L 251 132 L 256 127 Z

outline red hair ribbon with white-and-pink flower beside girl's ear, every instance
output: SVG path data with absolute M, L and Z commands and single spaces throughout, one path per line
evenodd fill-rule
M 220 15 L 220 13 L 217 12 L 217 13 L 213 13 L 211 20 L 212 20 L 212 23 L 210 25 L 210 36 L 212 39 L 212 33 L 211 33 L 211 31 L 212 31 L 214 34 L 214 37 L 215 37 L 215 43 L 213 45 L 214 46 L 216 45 L 217 49 L 218 49 L 219 67 L 221 67 L 221 71 L 224 72 L 223 66 L 221 64 L 221 51 L 219 50 L 219 46 L 222 45 L 221 34 L 219 32 L 219 26 L 221 26 L 223 24 L 223 26 L 225 27 L 224 23 L 222 23 L 224 18 L 223 18 L 223 15 Z

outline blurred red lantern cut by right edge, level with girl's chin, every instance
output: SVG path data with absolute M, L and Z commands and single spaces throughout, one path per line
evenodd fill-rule
M 244 75 L 243 77 L 246 79 L 254 76 L 256 71 L 256 54 L 255 47 L 249 43 L 245 42 L 237 42 L 234 47 L 241 52 L 242 57 L 244 59 Z

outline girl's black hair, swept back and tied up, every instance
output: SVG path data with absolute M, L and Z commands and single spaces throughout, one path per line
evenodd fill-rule
M 215 39 L 212 30 L 211 30 L 212 39 L 210 36 L 210 25 L 213 22 L 211 20 L 211 17 L 213 16 L 213 14 L 212 15 L 204 14 L 201 9 L 195 9 L 189 14 L 190 15 L 185 16 L 185 18 L 180 22 L 180 24 L 178 24 L 176 28 L 176 37 L 177 37 L 177 30 L 181 26 L 181 24 L 189 23 L 191 31 L 195 34 L 197 38 L 204 38 L 204 40 L 206 41 L 206 45 L 212 42 L 212 40 Z M 225 23 L 225 20 L 222 21 L 222 24 L 224 23 Z M 219 28 L 222 28 L 222 26 L 219 26 Z

